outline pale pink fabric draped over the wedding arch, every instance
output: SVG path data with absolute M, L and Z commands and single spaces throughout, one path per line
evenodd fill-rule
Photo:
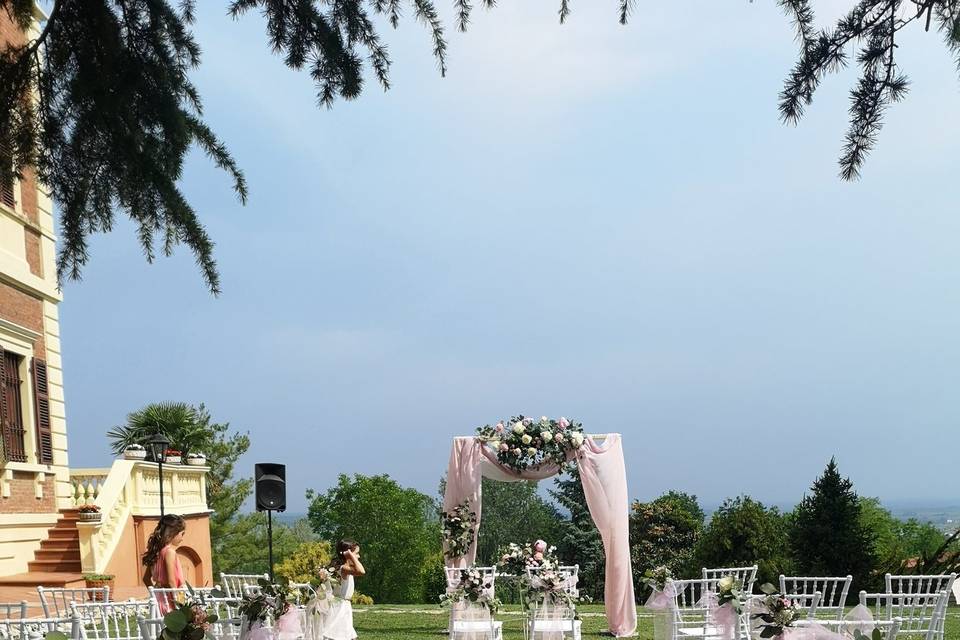
M 587 438 L 576 456 L 587 499 L 606 554 L 606 590 L 604 603 L 607 625 L 617 637 L 632 636 L 637 629 L 637 605 L 633 593 L 633 571 L 630 566 L 628 537 L 627 473 L 623 462 L 623 445 L 619 433 L 611 433 L 598 445 Z M 496 454 L 472 436 L 454 438 L 447 466 L 447 489 L 443 508 L 453 509 L 464 500 L 477 514 L 480 523 L 480 481 L 483 477 L 504 482 L 543 480 L 559 471 L 555 464 L 517 473 L 497 461 Z M 476 537 L 461 558 L 447 560 L 448 566 L 468 567 L 477 557 Z

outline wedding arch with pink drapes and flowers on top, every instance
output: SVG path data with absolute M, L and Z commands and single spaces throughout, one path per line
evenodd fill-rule
M 465 552 L 456 557 L 448 555 L 447 566 L 468 567 L 476 560 L 483 478 L 502 482 L 544 480 L 559 473 L 564 462 L 575 462 L 606 555 L 607 625 L 617 637 L 634 635 L 637 605 L 630 566 L 627 474 L 620 434 L 586 435 L 580 425 L 565 418 L 544 417 L 536 422 L 523 416 L 511 418 L 506 424 L 481 427 L 477 432 L 474 436 L 454 438 L 450 449 L 443 508 L 452 511 L 466 503 L 476 514 L 476 524 Z

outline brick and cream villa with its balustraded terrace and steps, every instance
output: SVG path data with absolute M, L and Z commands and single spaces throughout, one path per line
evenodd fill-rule
M 0 11 L 0 49 L 35 37 L 39 9 L 36 17 L 24 33 Z M 2 140 L 0 162 L 10 162 Z M 35 173 L 0 179 L 0 586 L 79 585 L 85 573 L 136 586 L 159 517 L 157 465 L 70 469 L 55 241 L 53 204 Z M 166 511 L 191 521 L 180 551 L 187 578 L 212 584 L 206 468 L 171 465 L 163 475 Z M 88 504 L 98 521 L 79 521 Z

